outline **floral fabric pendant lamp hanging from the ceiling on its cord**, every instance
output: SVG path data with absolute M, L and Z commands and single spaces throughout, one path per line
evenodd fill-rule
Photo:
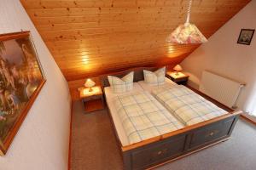
M 178 44 L 207 42 L 207 38 L 202 35 L 201 31 L 199 31 L 194 24 L 189 23 L 191 5 L 192 0 L 189 0 L 186 22 L 177 26 L 177 28 L 172 31 L 171 35 L 167 37 L 167 42 Z

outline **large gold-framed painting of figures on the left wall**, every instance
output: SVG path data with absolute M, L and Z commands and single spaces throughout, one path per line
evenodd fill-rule
M 29 31 L 0 35 L 0 155 L 6 154 L 45 82 Z

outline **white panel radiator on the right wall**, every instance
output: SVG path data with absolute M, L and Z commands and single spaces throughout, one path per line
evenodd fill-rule
M 244 86 L 241 82 L 221 77 L 209 71 L 203 71 L 199 90 L 218 102 L 236 108 L 236 101 Z

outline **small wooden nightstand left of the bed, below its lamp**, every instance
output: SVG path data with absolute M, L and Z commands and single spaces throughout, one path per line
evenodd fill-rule
M 98 111 L 105 107 L 100 86 L 92 87 L 91 92 L 89 92 L 89 88 L 79 88 L 79 98 L 83 102 L 85 112 Z

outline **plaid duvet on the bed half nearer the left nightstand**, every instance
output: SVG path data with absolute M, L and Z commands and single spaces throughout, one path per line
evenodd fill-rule
M 118 96 L 114 99 L 114 105 L 130 144 L 183 127 L 183 124 L 148 92 Z

